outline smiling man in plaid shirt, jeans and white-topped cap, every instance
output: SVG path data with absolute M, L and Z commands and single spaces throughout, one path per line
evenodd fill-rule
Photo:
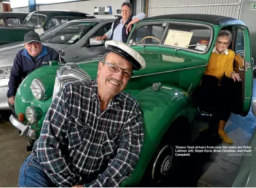
M 123 92 L 133 70 L 145 68 L 138 52 L 105 42 L 97 79 L 59 90 L 19 173 L 19 187 L 117 187 L 134 170 L 144 132 L 138 102 Z

